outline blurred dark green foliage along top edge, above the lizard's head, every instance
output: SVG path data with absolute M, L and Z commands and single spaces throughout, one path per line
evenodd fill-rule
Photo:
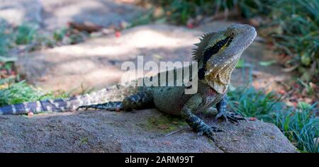
M 220 11 L 230 11 L 233 8 L 239 9 L 244 17 L 252 17 L 256 13 L 265 12 L 264 4 L 267 4 L 267 1 L 262 0 L 143 0 L 142 2 L 162 7 L 164 10 L 162 17 L 175 24 L 186 24 L 190 18 L 213 16 Z

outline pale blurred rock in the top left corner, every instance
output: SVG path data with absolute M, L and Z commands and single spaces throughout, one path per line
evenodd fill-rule
M 0 0 L 0 18 L 12 25 L 40 23 L 42 6 L 38 0 Z

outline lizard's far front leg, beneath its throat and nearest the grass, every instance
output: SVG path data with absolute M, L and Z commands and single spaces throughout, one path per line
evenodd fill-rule
M 216 120 L 219 117 L 224 117 L 226 121 L 230 120 L 231 122 L 239 122 L 240 120 L 245 120 L 245 118 L 242 117 L 242 115 L 240 115 L 238 113 L 227 112 L 227 110 L 226 110 L 227 100 L 228 100 L 227 95 L 225 95 L 223 97 L 223 99 L 220 100 L 220 102 L 216 104 L 216 108 L 218 110 L 218 114 L 216 115 Z

